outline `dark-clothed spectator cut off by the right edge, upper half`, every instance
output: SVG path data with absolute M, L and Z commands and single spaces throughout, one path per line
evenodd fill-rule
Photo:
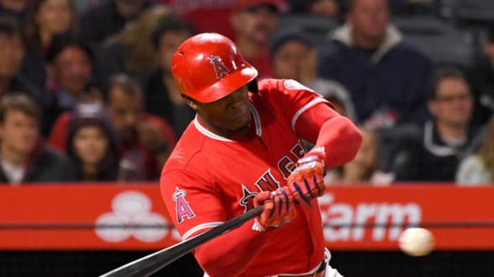
M 472 123 L 481 126 L 494 112 L 494 24 L 488 27 L 484 55 L 471 69 L 470 80 L 475 96 Z

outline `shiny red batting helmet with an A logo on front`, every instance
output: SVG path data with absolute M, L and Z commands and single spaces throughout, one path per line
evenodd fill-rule
M 172 59 L 172 74 L 180 92 L 210 103 L 253 81 L 257 70 L 226 36 L 205 33 L 180 44 Z

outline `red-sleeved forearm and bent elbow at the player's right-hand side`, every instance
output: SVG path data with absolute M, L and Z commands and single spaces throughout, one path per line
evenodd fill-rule
M 344 116 L 336 116 L 327 120 L 319 131 L 316 147 L 324 147 L 326 168 L 334 168 L 348 163 L 362 144 L 362 133 Z

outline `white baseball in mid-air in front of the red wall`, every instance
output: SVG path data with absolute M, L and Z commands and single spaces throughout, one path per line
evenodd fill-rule
M 408 228 L 399 237 L 399 248 L 410 256 L 425 256 L 434 250 L 434 235 L 424 228 Z

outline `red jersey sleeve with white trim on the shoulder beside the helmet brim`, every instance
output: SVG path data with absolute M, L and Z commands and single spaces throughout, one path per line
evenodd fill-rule
M 327 105 L 333 108 L 322 95 L 292 79 L 261 81 L 259 88 L 266 91 L 272 107 L 290 123 L 294 131 L 297 131 L 295 128 L 301 115 L 311 107 Z

